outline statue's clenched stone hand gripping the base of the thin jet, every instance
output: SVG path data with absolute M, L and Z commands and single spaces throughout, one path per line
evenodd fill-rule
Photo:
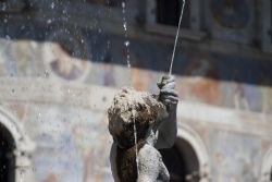
M 160 83 L 158 83 L 158 87 L 160 88 L 159 100 L 163 102 L 168 110 L 176 107 L 178 102 L 178 95 L 175 90 L 175 77 L 174 76 L 162 76 Z

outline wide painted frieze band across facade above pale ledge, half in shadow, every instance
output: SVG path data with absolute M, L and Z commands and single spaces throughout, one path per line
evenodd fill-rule
M 132 39 L 133 69 L 129 71 L 126 68 L 123 38 L 86 35 L 86 33 L 83 36 L 86 39 L 86 47 L 91 48 L 87 53 L 88 58 L 70 54 L 62 47 L 62 43 L 35 46 L 34 43 L 13 44 L 10 40 L 2 40 L 1 74 L 10 76 L 29 74 L 34 65 L 38 66 L 35 59 L 39 59 L 40 56 L 32 53 L 35 50 L 41 52 L 44 61 L 44 68 L 40 66 L 40 71 L 35 70 L 37 75 L 47 72 L 49 76 L 63 81 L 88 82 L 113 87 L 131 85 L 132 82 L 139 90 L 152 93 L 158 90 L 156 83 L 161 75 L 157 72 L 168 72 L 171 46 Z M 4 51 L 7 49 L 9 51 Z M 14 54 L 20 56 L 14 57 Z M 26 63 L 18 61 L 18 58 L 24 59 Z M 148 71 L 150 69 L 154 72 Z M 271 70 L 272 63 L 265 59 L 257 60 L 183 48 L 182 51 L 178 49 L 173 72 L 177 76 L 177 90 L 182 93 L 184 99 L 271 113 L 272 104 L 267 99 L 272 95 Z M 190 78 L 184 80 L 184 76 Z

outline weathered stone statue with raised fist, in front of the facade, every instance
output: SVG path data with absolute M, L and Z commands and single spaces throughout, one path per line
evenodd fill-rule
M 178 97 L 173 76 L 163 76 L 158 86 L 159 96 L 123 88 L 108 110 L 115 182 L 170 180 L 157 149 L 170 148 L 175 142 Z

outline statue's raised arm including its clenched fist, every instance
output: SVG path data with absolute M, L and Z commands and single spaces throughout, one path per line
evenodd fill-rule
M 178 95 L 175 90 L 174 76 L 163 76 L 160 84 L 159 100 L 166 107 L 168 116 L 161 118 L 161 124 L 158 128 L 159 136 L 156 148 L 171 148 L 176 138 L 176 109 L 178 102 Z

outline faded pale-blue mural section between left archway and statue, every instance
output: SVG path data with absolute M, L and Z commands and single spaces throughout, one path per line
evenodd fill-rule
M 112 181 L 107 113 L 71 107 L 29 107 L 35 151 L 36 180 L 39 182 Z

